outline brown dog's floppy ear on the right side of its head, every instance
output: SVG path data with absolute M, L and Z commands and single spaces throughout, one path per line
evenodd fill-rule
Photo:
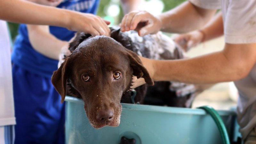
M 127 53 L 133 69 L 133 75 L 137 76 L 137 78 L 143 77 L 148 85 L 154 85 L 153 79 L 149 76 L 148 70 L 143 66 L 138 55 L 130 50 L 127 50 Z

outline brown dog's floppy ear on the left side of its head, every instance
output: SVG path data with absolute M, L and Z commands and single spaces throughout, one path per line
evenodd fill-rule
M 61 96 L 61 103 L 64 102 L 65 96 L 66 96 L 66 83 L 67 83 L 67 76 L 69 75 L 68 71 L 68 63 L 69 61 L 66 60 L 61 64 L 60 68 L 58 68 L 56 71 L 53 72 L 52 75 L 52 84 L 55 87 L 56 91 Z

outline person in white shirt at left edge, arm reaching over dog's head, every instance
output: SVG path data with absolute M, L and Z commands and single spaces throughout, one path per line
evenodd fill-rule
M 54 5 L 59 0 L 51 0 Z M 6 21 L 52 25 L 92 35 L 109 35 L 109 21 L 92 14 L 72 12 L 23 0 L 1 0 L 0 4 L 0 144 L 14 142 L 14 104 L 11 47 Z M 89 22 L 88 22 L 89 21 Z M 97 26 L 97 27 L 95 27 Z M 94 27 L 93 29 L 91 27 Z

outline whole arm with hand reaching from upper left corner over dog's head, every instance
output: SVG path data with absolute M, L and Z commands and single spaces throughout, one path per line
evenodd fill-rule
M 0 3 L 0 19 L 3 20 L 65 27 L 94 36 L 110 33 L 107 26 L 110 22 L 92 14 L 43 6 L 24 0 L 0 0 Z

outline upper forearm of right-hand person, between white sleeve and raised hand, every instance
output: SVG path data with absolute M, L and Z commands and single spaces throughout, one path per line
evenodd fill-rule
M 186 33 L 203 27 L 214 15 L 216 10 L 206 10 L 190 2 L 184 2 L 171 11 L 159 15 L 162 21 L 162 31 L 171 33 Z

